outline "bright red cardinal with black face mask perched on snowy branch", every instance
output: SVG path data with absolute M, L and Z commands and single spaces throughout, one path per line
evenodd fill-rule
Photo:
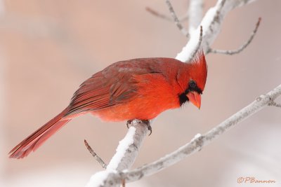
M 206 79 L 202 52 L 190 63 L 157 57 L 111 64 L 84 81 L 69 106 L 15 146 L 10 158 L 24 158 L 72 118 L 86 113 L 107 121 L 150 120 L 188 101 L 200 108 Z

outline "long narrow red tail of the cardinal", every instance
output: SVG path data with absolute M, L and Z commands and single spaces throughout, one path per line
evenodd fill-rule
M 9 158 L 25 158 L 31 151 L 36 151 L 49 137 L 71 120 L 71 118 L 63 119 L 67 111 L 69 111 L 68 107 L 37 131 L 30 134 L 29 137 L 22 140 L 20 144 L 10 151 Z

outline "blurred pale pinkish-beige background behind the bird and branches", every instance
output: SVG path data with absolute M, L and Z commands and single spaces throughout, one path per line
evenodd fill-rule
M 188 10 L 187 0 L 171 3 L 178 15 Z M 215 4 L 205 1 L 204 12 Z M 72 120 L 23 160 L 8 159 L 8 151 L 62 111 L 96 71 L 119 60 L 181 51 L 185 36 L 146 6 L 169 15 L 160 0 L 0 1 L 0 186 L 84 186 L 102 170 L 84 139 L 109 162 L 126 125 L 93 116 Z M 279 0 L 256 1 L 228 14 L 212 47 L 240 47 L 261 17 L 254 41 L 238 55 L 207 55 L 200 111 L 190 104 L 162 113 L 133 167 L 174 151 L 280 85 L 280 10 Z M 254 186 L 280 186 L 280 132 L 281 109 L 267 107 L 199 153 L 128 186 L 252 186 L 237 183 L 240 176 L 276 181 Z

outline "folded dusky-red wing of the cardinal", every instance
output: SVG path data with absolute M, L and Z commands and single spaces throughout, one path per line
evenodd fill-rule
M 105 109 L 134 99 L 137 92 L 136 75 L 155 73 L 145 59 L 117 62 L 94 74 L 80 85 L 65 115 Z

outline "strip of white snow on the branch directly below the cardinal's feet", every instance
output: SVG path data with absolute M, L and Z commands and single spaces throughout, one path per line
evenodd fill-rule
M 121 162 L 126 150 L 131 144 L 133 144 L 133 136 L 136 133 L 135 127 L 130 127 L 126 137 L 119 141 L 119 145 L 116 149 L 116 154 L 110 160 L 110 163 L 107 165 L 107 169 L 117 169 L 119 163 Z

